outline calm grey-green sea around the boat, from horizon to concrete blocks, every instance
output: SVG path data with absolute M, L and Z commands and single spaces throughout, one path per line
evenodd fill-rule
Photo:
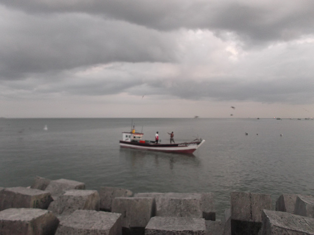
M 73 179 L 87 189 L 213 192 L 217 218 L 234 191 L 314 195 L 314 120 L 134 118 L 147 140 L 206 140 L 193 155 L 120 149 L 131 118 L 0 119 L 0 186 L 35 176 Z M 47 125 L 48 130 L 44 130 Z M 248 135 L 244 133 L 247 132 Z M 258 133 L 258 135 L 257 135 Z M 283 136 L 280 136 L 283 134 Z

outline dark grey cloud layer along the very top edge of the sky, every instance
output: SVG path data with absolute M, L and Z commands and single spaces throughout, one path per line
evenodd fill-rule
M 313 32 L 314 1 L 233 0 L 1 0 L 3 4 L 41 14 L 84 12 L 158 30 L 209 29 L 224 37 L 234 32 L 242 40 L 288 40 Z M 251 44 L 252 45 L 252 44 Z

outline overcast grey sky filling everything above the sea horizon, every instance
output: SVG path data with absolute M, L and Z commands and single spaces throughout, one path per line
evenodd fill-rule
M 313 12 L 314 0 L 0 0 L 0 117 L 313 117 Z

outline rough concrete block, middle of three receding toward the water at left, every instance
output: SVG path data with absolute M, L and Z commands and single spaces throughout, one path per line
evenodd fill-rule
M 48 207 L 55 214 L 69 215 L 77 209 L 99 210 L 97 190 L 68 190 Z

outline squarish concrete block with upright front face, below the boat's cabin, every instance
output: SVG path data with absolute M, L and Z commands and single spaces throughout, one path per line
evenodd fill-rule
M 155 199 L 145 197 L 119 197 L 112 202 L 112 212 L 122 214 L 122 227 L 145 228 L 155 216 Z

